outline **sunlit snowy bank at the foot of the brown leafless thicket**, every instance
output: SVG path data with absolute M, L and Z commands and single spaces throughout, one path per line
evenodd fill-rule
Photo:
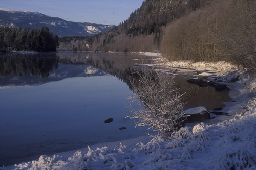
M 236 82 L 243 87 L 250 89 L 251 91 L 256 90 L 256 75 L 250 75 L 245 70 L 238 70 L 236 65 L 232 65 L 229 62 L 192 62 L 189 60 L 185 61 L 168 61 L 163 57 L 158 57 L 154 64 L 148 64 L 149 66 L 164 66 L 164 69 L 173 69 L 178 67 L 178 72 L 192 71 L 201 72 L 199 76 L 216 76 L 217 81 L 222 82 Z M 186 68 L 186 69 L 182 69 Z

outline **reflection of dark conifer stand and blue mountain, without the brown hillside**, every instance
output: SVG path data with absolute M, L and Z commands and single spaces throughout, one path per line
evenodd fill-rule
M 56 53 L 0 55 L 0 88 L 103 75 L 105 71 L 89 65 L 61 64 Z

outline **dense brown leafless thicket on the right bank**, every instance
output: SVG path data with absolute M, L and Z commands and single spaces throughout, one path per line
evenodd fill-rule
M 166 27 L 161 51 L 169 60 L 228 61 L 256 72 L 256 2 L 215 0 Z

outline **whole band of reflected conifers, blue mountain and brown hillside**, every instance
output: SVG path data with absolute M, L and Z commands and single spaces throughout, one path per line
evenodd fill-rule
M 0 55 L 0 86 L 34 86 L 71 77 L 107 72 L 130 85 L 136 56 L 109 53 L 39 53 Z

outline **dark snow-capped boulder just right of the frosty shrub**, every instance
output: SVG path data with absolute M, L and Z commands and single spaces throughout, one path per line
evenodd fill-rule
M 189 122 L 201 122 L 201 120 L 210 119 L 210 113 L 205 107 L 194 107 L 185 110 L 183 113 L 185 118 L 185 123 Z

